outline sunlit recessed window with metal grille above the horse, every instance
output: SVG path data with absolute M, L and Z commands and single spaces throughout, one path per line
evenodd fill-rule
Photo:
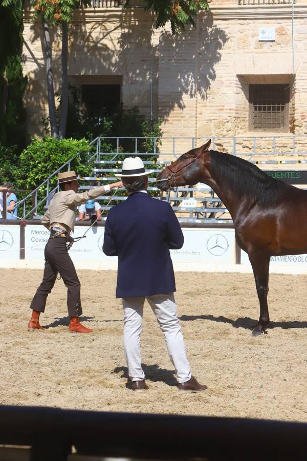
M 250 130 L 288 131 L 289 85 L 250 85 Z

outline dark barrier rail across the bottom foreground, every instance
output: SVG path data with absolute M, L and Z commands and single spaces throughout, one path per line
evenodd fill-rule
M 0 444 L 32 446 L 31 461 L 64 461 L 72 445 L 83 455 L 144 460 L 294 461 L 306 459 L 306 439 L 304 423 L 0 407 Z

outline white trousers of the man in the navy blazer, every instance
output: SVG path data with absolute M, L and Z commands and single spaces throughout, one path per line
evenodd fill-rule
M 146 297 L 164 333 L 169 358 L 176 370 L 179 383 L 192 377 L 186 356 L 184 340 L 177 317 L 173 293 Z M 132 381 L 145 379 L 141 367 L 140 336 L 145 297 L 123 298 L 124 349 L 129 377 Z

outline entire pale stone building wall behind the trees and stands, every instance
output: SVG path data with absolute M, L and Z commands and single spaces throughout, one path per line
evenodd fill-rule
M 242 2 L 243 3 L 243 0 Z M 122 85 L 125 107 L 139 106 L 146 116 L 163 120 L 164 137 L 287 135 L 249 131 L 248 86 L 287 83 L 291 89 L 288 134 L 307 134 L 307 0 L 294 5 L 294 72 L 292 5 L 238 5 L 214 0 L 211 13 L 201 13 L 196 29 L 173 37 L 169 29 L 153 30 L 152 17 L 141 8 L 87 9 L 75 14 L 69 41 L 69 76 L 74 85 Z M 258 30 L 274 27 L 275 41 L 261 42 Z M 46 73 L 41 51 L 41 25 L 25 13 L 24 70 L 29 77 L 26 104 L 29 128 L 41 134 L 40 118 L 48 113 Z M 60 37 L 53 37 L 56 87 L 60 75 Z M 117 79 L 117 80 L 116 80 Z M 191 139 L 176 141 L 176 150 Z M 216 139 L 232 152 L 233 141 Z M 259 141 L 260 142 L 260 141 Z M 259 143 L 265 149 L 272 141 Z M 279 149 L 288 149 L 289 139 Z M 291 141 L 292 142 L 292 141 Z M 303 143 L 303 141 L 302 141 Z M 165 139 L 163 149 L 171 151 Z

